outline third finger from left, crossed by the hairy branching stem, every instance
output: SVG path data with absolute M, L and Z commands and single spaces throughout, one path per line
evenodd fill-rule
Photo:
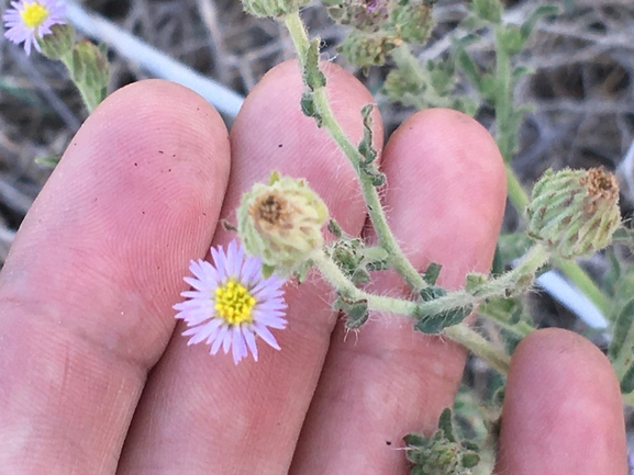
M 440 283 L 448 289 L 461 286 L 466 272 L 488 272 L 505 179 L 487 131 L 455 111 L 420 112 L 390 138 L 382 160 L 388 219 L 412 263 L 442 264 Z M 379 275 L 375 291 L 408 295 L 394 275 Z M 340 325 L 291 473 L 408 473 L 401 439 L 437 427 L 453 404 L 465 351 L 394 315 L 372 315 L 344 337 Z

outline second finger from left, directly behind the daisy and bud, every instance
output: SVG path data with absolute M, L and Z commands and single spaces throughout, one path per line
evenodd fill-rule
M 327 65 L 324 72 L 335 116 L 358 143 L 360 110 L 372 98 L 340 67 Z M 223 217 L 235 223 L 242 193 L 278 170 L 305 178 L 333 217 L 357 234 L 365 206 L 354 171 L 327 133 L 302 114 L 303 89 L 290 61 L 271 69 L 246 99 L 231 132 Z M 379 139 L 378 116 L 375 125 Z M 219 230 L 214 245 L 233 237 Z M 289 325 L 274 330 L 281 350 L 258 341 L 257 362 L 248 357 L 236 366 L 231 354 L 211 357 L 208 346 L 187 347 L 187 338 L 177 335 L 148 381 L 120 475 L 288 473 L 336 319 L 331 298 L 315 276 L 287 285 Z

